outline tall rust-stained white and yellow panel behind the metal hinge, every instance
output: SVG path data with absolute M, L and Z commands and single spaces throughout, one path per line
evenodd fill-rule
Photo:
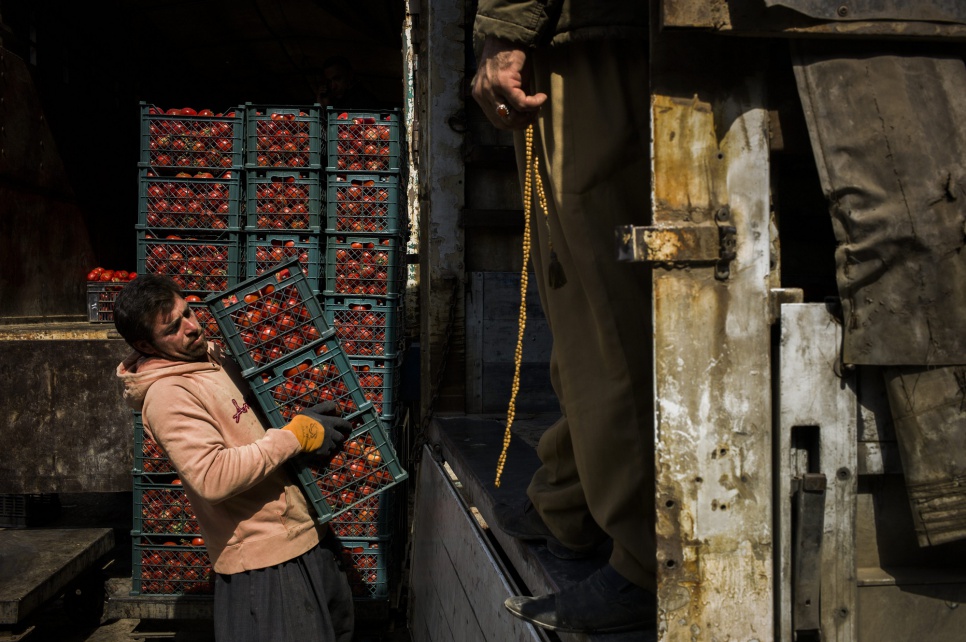
M 749 71 L 761 51 L 651 43 L 654 224 L 713 225 L 728 206 L 737 238 L 727 280 L 654 270 L 658 633 L 771 640 L 768 114 Z

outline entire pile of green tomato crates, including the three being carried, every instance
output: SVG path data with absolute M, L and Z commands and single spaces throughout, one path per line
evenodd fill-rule
M 406 479 L 392 444 L 403 355 L 400 149 L 398 110 L 246 103 L 186 116 L 141 104 L 137 271 L 178 283 L 273 426 L 326 400 L 353 422 L 331 462 L 296 472 L 319 522 L 342 541 L 363 601 L 388 598 L 391 509 Z M 135 434 L 143 438 L 140 421 Z M 206 590 L 170 577 L 177 567 L 195 575 L 185 562 L 198 560 L 181 557 L 197 553 L 184 543 L 197 535 L 145 531 L 145 520 L 162 523 L 145 513 L 174 484 L 143 478 L 160 474 L 140 470 L 152 446 L 138 441 L 135 453 L 134 593 Z

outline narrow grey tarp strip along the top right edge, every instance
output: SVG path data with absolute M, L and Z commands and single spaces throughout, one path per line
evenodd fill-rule
M 962 0 L 765 0 L 768 7 L 786 7 L 817 20 L 902 20 L 966 23 Z

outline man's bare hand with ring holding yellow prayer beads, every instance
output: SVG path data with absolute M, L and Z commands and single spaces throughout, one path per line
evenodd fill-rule
M 526 129 L 537 118 L 547 94 L 528 95 L 530 65 L 519 45 L 487 36 L 480 67 L 473 77 L 473 98 L 498 129 Z M 502 106 L 508 108 L 503 111 Z

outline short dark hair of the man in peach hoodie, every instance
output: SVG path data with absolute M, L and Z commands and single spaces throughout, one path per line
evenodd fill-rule
M 176 296 L 181 288 L 169 277 L 139 274 L 114 300 L 114 327 L 131 347 L 138 341 L 151 343 L 154 320 L 171 311 Z

